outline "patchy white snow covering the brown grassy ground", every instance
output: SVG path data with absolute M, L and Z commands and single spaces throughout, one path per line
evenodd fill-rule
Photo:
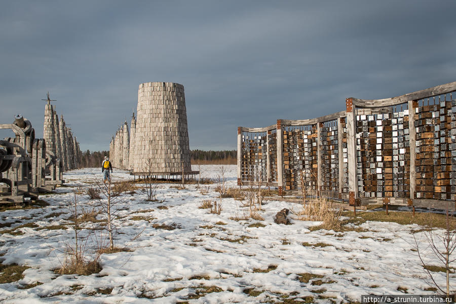
M 203 166 L 204 175 L 215 179 L 219 167 Z M 236 166 L 225 168 L 227 186 L 235 187 Z M 132 178 L 117 170 L 112 176 L 116 181 Z M 410 231 L 419 226 L 366 222 L 360 226 L 363 232 L 310 231 L 319 223 L 275 224 L 276 212 L 293 206 L 279 201 L 263 205 L 258 213 L 264 221 L 235 221 L 230 218 L 247 210 L 233 198 L 223 199 L 219 215 L 198 208 L 203 199 L 216 199 L 215 184 L 205 195 L 196 185 L 179 190 L 176 184 L 160 184 L 157 198 L 163 202 L 146 202 L 139 191 L 123 194 L 115 245 L 132 251 L 102 254 L 98 274 L 57 275 L 53 270 L 65 258 L 61 251 L 74 237 L 71 229 L 58 229 L 69 223 L 66 206 L 78 186 L 91 187 L 101 178 L 100 169 L 65 173 L 70 187 L 40 197 L 49 206 L 0 212 L 0 224 L 11 223 L 0 229 L 2 264 L 30 267 L 22 280 L 0 284 L 1 302 L 292 303 L 295 298 L 340 303 L 360 301 L 362 294 L 433 294 L 425 290 L 425 273 L 411 250 Z M 93 204 L 87 195 L 80 203 Z M 258 222 L 264 227 L 249 227 Z M 23 224 L 34 225 L 5 233 Z M 177 228 L 156 229 L 156 224 Z M 321 246 L 309 245 L 317 243 Z M 303 279 L 306 274 L 309 282 Z M 443 282 L 443 273 L 438 280 Z

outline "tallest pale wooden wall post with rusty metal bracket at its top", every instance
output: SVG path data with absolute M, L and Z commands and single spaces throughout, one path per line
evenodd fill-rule
M 353 198 L 358 197 L 358 177 L 356 158 L 356 115 L 355 107 L 351 98 L 347 98 L 347 152 L 348 152 L 348 177 L 349 192 L 353 192 Z

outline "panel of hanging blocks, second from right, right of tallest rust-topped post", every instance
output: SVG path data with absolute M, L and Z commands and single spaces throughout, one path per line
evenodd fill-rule
M 405 105 L 403 105 L 404 107 Z M 408 197 L 410 147 L 408 110 L 383 109 L 357 115 L 357 178 L 360 197 Z

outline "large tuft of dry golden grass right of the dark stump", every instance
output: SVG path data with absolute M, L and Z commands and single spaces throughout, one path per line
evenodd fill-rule
M 323 222 L 320 226 L 322 229 L 340 230 L 341 222 L 339 218 L 342 211 L 334 208 L 332 202 L 325 197 L 308 202 L 308 204 L 302 206 L 301 210 L 292 209 L 291 212 L 298 215 L 298 220 L 301 221 Z

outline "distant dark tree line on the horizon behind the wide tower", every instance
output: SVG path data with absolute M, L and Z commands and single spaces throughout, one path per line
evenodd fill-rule
M 83 168 L 101 167 L 105 156 L 109 156 L 109 151 L 81 152 L 81 166 Z M 190 156 L 192 164 L 236 164 L 237 151 L 191 150 Z

